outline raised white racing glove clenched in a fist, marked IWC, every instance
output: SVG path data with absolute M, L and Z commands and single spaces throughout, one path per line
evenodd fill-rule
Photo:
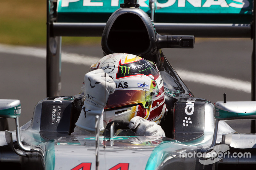
M 101 115 L 108 101 L 109 94 L 112 94 L 116 89 L 116 84 L 102 69 L 93 70 L 85 74 L 84 84 L 84 106 L 76 126 L 93 132 L 95 131 L 96 115 L 100 116 L 103 124 Z

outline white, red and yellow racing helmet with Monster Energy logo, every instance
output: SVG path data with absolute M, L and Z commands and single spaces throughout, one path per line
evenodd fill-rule
M 116 89 L 109 95 L 104 122 L 130 121 L 140 116 L 160 124 L 166 107 L 164 85 L 156 64 L 125 53 L 106 55 L 90 71 L 102 69 L 113 78 Z

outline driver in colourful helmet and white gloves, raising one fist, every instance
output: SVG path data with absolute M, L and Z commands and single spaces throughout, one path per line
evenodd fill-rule
M 84 105 L 71 135 L 94 134 L 99 115 L 101 130 L 125 120 L 139 135 L 165 137 L 159 125 L 166 112 L 164 85 L 155 63 L 125 53 L 106 55 L 85 74 L 81 94 Z

